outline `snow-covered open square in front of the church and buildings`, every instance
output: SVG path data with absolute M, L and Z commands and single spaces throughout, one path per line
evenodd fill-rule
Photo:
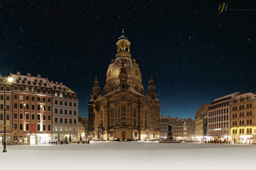
M 0 152 L 0 169 L 254 169 L 256 160 L 256 145 L 204 143 L 91 142 L 7 151 Z

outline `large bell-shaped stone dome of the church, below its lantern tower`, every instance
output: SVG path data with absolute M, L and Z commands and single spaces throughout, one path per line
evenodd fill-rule
M 135 62 L 136 60 L 130 57 L 117 57 L 115 60 L 111 61 L 112 63 L 107 69 L 107 86 L 117 86 L 119 84 L 122 60 L 124 60 L 124 67 L 127 71 L 128 84 L 130 86 L 142 86 L 142 74 L 139 70 L 139 65 Z

